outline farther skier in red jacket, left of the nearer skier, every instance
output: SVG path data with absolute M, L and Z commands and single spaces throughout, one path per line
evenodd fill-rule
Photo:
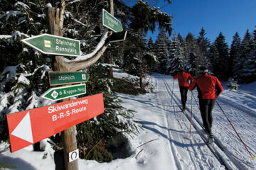
M 188 93 L 188 86 L 189 81 L 190 84 L 193 81 L 193 77 L 191 77 L 191 74 L 186 73 L 183 71 L 183 69 L 174 76 L 174 79 L 178 78 L 178 86 L 181 92 L 181 103 L 182 103 L 182 111 L 184 112 L 186 109 L 186 101 L 187 101 L 187 93 Z

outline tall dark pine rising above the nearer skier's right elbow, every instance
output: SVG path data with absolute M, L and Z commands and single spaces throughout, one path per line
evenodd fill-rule
M 216 38 L 214 45 L 218 50 L 219 60 L 215 69 L 215 74 L 221 80 L 228 80 L 230 77 L 230 56 L 228 53 L 228 43 L 225 42 L 224 35 L 220 32 Z

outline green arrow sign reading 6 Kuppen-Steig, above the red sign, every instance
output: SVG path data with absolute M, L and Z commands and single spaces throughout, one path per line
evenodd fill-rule
M 46 98 L 50 101 L 59 101 L 64 98 L 70 98 L 81 94 L 86 94 L 85 84 L 51 88 L 44 94 L 42 94 L 41 97 Z

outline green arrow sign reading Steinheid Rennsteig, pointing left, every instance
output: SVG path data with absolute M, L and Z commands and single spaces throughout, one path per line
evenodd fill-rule
M 80 56 L 80 41 L 42 34 L 21 40 L 46 55 Z

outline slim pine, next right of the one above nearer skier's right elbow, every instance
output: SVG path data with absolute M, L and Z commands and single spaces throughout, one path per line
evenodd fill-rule
M 238 77 L 239 70 L 240 70 L 240 46 L 241 46 L 241 38 L 238 35 L 238 32 L 235 33 L 233 36 L 233 41 L 230 46 L 230 62 L 231 67 L 230 69 L 233 71 L 231 75 L 233 77 Z

